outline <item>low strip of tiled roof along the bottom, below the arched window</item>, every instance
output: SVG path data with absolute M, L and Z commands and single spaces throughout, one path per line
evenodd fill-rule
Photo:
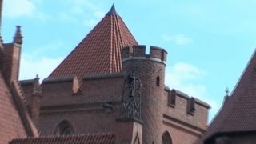
M 114 144 L 114 134 L 87 134 L 14 139 L 10 144 Z

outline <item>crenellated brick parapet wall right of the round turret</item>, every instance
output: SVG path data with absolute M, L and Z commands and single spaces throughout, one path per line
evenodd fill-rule
M 204 131 L 207 126 L 208 110 L 210 106 L 198 98 L 190 97 L 188 94 L 179 90 L 170 90 L 168 86 L 166 91 L 166 112 L 164 118 L 177 120 L 179 123 L 187 125 L 191 129 L 196 128 Z

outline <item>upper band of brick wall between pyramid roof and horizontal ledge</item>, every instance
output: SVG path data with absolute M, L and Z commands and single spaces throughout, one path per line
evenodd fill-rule
M 116 102 L 122 97 L 122 78 L 82 81 L 82 94 L 74 94 L 73 81 L 42 84 L 42 106 L 71 105 L 94 102 Z

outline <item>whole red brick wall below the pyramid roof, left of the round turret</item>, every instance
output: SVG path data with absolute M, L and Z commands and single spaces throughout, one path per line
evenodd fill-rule
M 38 123 L 42 134 L 53 134 L 62 120 L 74 126 L 75 134 L 114 133 L 115 118 L 120 115 L 122 82 L 122 77 L 85 78 L 82 94 L 73 94 L 72 81 L 44 83 Z M 106 102 L 113 103 L 113 113 L 105 112 Z

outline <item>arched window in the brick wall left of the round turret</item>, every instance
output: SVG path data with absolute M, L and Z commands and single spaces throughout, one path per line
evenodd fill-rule
M 70 122 L 63 120 L 60 122 L 54 132 L 57 135 L 71 135 L 74 134 L 74 129 L 71 126 Z

